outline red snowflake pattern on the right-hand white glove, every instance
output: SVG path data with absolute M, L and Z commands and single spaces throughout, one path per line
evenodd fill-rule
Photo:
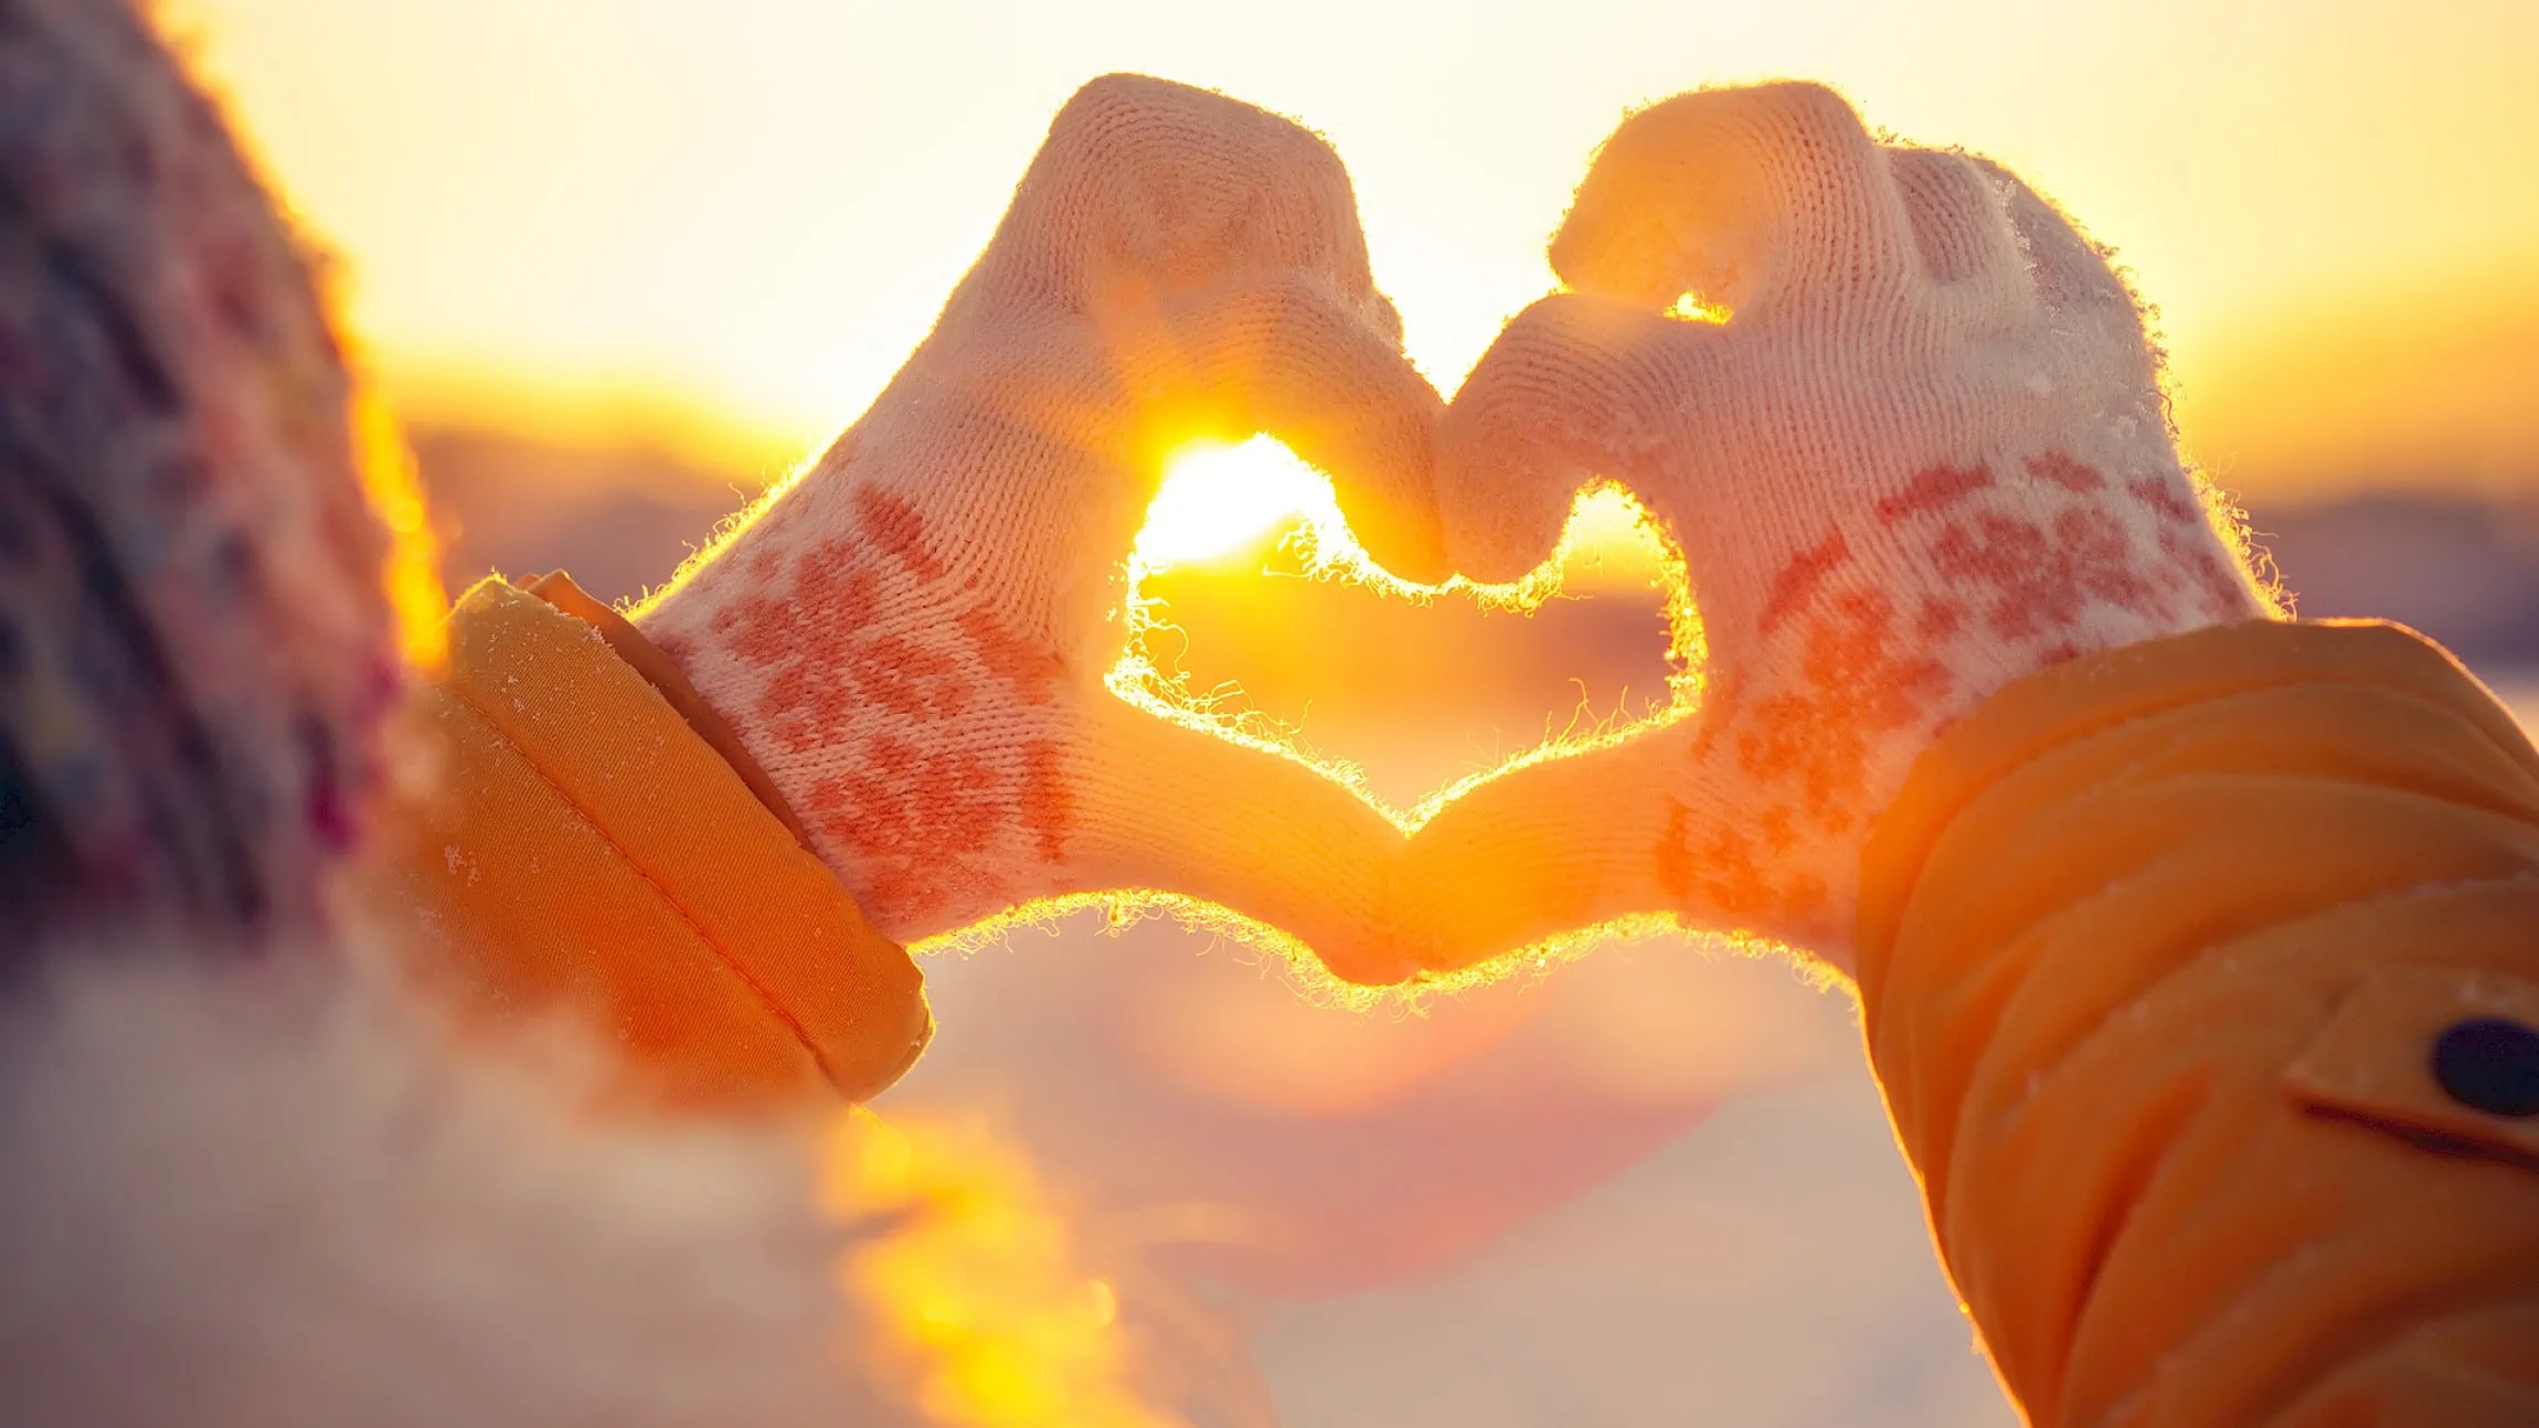
M 1909 616 L 1841 528 L 1772 576 L 1757 619 L 1770 677 L 1724 675 L 1734 695 L 1709 700 L 1691 743 L 1696 779 L 1739 781 L 1747 817 L 1668 802 L 1655 862 L 1673 898 L 1772 926 L 1818 918 L 1828 878 L 1790 855 L 1866 829 L 1886 789 L 1876 751 L 1935 738 L 2006 654 L 2044 670 L 2110 626 L 2247 614 L 2209 535 L 2191 540 L 2201 507 L 2171 482 L 2138 479 L 2107 502 L 2107 477 L 2069 451 L 2016 469 L 2003 482 L 1985 464 L 1927 467 L 1874 502 L 1884 558 L 1902 548 L 1922 571 Z

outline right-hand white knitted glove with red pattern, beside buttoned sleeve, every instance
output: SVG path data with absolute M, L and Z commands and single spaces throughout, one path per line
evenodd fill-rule
M 1447 413 L 1447 550 L 1513 576 L 1582 482 L 1627 484 L 1683 550 L 1706 682 L 1694 718 L 1424 827 L 1422 961 L 1671 911 L 1848 966 L 1869 824 L 1940 728 L 2270 609 L 2178 464 L 2133 294 L 1985 160 L 1881 147 L 1810 84 L 1686 94 L 1612 134 L 1551 266 L 1572 292 Z

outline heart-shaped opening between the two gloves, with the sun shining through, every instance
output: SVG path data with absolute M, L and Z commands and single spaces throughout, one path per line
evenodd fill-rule
M 1168 467 L 1127 573 L 1110 687 L 1272 743 L 1407 834 L 1511 761 L 1688 713 L 1681 555 L 1617 487 L 1501 586 L 1414 583 L 1348 533 L 1330 479 L 1270 436 Z

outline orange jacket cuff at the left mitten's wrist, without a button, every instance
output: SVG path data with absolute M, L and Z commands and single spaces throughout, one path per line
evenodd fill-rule
M 409 733 L 363 898 L 475 1020 L 579 1015 L 680 1106 L 863 1098 L 924 1048 L 906 951 L 584 619 L 475 586 Z

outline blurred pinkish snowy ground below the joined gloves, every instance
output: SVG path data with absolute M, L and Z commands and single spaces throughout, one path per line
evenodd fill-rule
M 1521 992 L 1513 1027 L 1455 1035 L 1462 1007 L 1376 1025 L 1460 1045 L 1282 1108 L 1150 1045 L 1137 971 L 1257 997 L 1264 1017 L 1295 1002 L 1178 928 L 1028 938 L 929 969 L 942 1037 L 884 1113 L 993 1106 L 1097 1238 L 1193 1192 L 1234 1238 L 1259 1228 L 1259 1253 L 1206 1245 L 1191 1273 L 1234 1283 L 1224 1314 L 1280 1423 L 2013 1420 L 1940 1278 L 1846 997 L 1643 944 Z M 1594 1030 L 1630 1007 L 1640 1025 L 1610 1027 L 1638 1040 L 1627 1065 L 1592 1065 Z M 1765 1032 L 1704 1050 L 1729 1020 Z M 1442 1256 L 1389 1256 L 1384 1238 L 1422 1223 L 1462 1230 Z

